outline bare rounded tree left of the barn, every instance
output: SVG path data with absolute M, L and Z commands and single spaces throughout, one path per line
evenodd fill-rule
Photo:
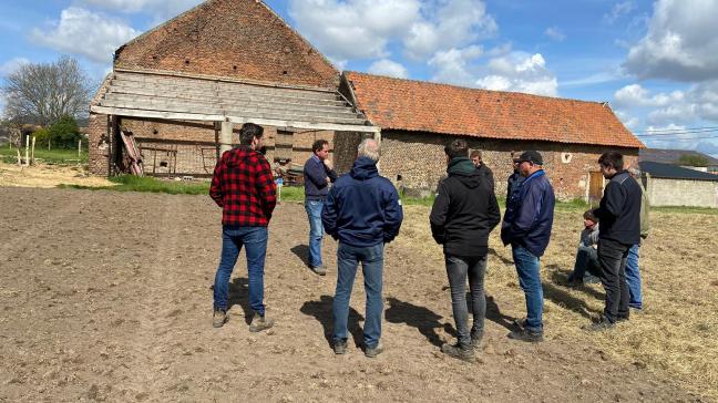
M 91 80 L 70 56 L 53 63 L 25 63 L 4 80 L 4 114 L 13 121 L 49 125 L 62 116 L 86 113 L 93 90 Z

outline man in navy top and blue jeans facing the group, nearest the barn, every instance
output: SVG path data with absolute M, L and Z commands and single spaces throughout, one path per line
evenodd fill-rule
M 311 145 L 312 155 L 305 163 L 305 209 L 309 218 L 309 267 L 319 276 L 327 273 L 321 264 L 321 209 L 329 193 L 329 182 L 337 173 L 329 163 L 329 142 L 318 140 Z

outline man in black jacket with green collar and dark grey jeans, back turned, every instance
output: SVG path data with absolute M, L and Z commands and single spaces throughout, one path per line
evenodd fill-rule
M 486 312 L 484 273 L 489 251 L 489 234 L 501 220 L 493 187 L 469 159 L 463 140 L 445 148 L 449 176 L 439 184 L 438 196 L 429 220 L 431 234 L 443 245 L 447 275 L 451 286 L 451 306 L 457 323 L 458 342 L 445 343 L 441 351 L 471 361 L 474 348 L 483 337 Z M 473 327 L 468 328 L 465 285 L 469 277 Z

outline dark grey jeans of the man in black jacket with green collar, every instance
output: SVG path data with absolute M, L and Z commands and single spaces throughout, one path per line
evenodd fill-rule
M 459 257 L 444 255 L 447 276 L 451 286 L 451 308 L 457 323 L 457 339 L 463 348 L 471 345 L 472 334 L 482 334 L 486 317 L 486 296 L 484 293 L 484 275 L 486 256 Z M 466 278 L 471 292 L 471 312 L 473 326 L 469 332 L 469 307 L 466 306 Z

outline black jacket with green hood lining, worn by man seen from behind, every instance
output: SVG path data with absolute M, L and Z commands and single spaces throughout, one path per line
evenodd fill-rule
M 429 216 L 431 234 L 447 255 L 485 256 L 489 234 L 501 221 L 496 195 L 469 158 L 452 158 L 447 173 Z

